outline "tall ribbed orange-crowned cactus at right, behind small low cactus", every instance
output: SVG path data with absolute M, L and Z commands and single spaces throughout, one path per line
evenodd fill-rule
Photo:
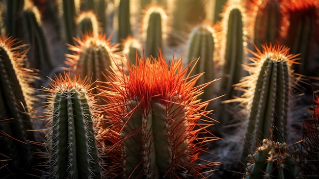
M 291 65 L 297 63 L 298 55 L 289 54 L 289 48 L 276 45 L 262 45 L 262 52 L 251 53 L 253 62 L 247 70 L 251 75 L 242 79 L 236 86 L 243 90 L 242 105 L 247 110 L 246 141 L 257 146 L 269 136 L 272 125 L 276 127 L 273 140 L 284 142 L 287 137 L 288 113 L 297 78 Z M 251 147 L 244 150 L 243 158 L 249 154 Z M 245 160 L 245 159 L 243 159 Z

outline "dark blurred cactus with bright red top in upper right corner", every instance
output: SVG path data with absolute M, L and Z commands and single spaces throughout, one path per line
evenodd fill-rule
M 309 75 L 316 68 L 312 65 L 315 62 L 319 42 L 317 35 L 319 4 L 317 1 L 305 2 L 282 1 L 281 5 L 289 26 L 286 30 L 286 38 L 283 40 L 286 46 L 290 47 L 291 53 L 300 54 L 301 65 L 294 65 L 297 73 Z M 309 90 L 310 91 L 310 90 Z M 310 93 L 311 94 L 311 93 Z

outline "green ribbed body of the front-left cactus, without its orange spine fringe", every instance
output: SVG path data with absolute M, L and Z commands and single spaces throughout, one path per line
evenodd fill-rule
M 100 178 L 91 112 L 85 94 L 59 91 L 54 99 L 50 175 Z

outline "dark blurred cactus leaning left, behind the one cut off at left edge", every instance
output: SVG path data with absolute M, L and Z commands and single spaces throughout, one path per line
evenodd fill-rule
M 40 70 L 39 74 L 44 79 L 54 66 L 50 59 L 39 10 L 29 0 L 24 1 L 22 19 L 26 36 L 25 43 L 32 44 L 28 52 L 30 67 Z

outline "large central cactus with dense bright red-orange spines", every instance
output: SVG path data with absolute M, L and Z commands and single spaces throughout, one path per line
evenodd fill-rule
M 198 95 L 212 82 L 196 86 L 201 74 L 189 76 L 191 64 L 183 69 L 181 60 L 173 58 L 169 67 L 162 54 L 158 59 L 142 56 L 137 60 L 137 66 L 128 63 L 129 75 L 120 69 L 121 74 L 114 73 L 104 82 L 111 87 L 101 86 L 102 97 L 110 101 L 104 111 L 114 126 L 112 130 L 120 135 L 112 147 L 119 148 L 122 156 L 117 173 L 124 176 L 118 177 L 204 178 L 204 169 L 217 163 L 194 162 L 200 160 L 206 142 L 216 137 L 209 133 L 195 142 L 198 134 L 207 132 L 205 128 L 213 124 L 212 119 L 203 126 L 196 123 L 210 113 L 202 110 L 209 101 L 200 103 Z M 194 130 L 195 126 L 199 129 Z

